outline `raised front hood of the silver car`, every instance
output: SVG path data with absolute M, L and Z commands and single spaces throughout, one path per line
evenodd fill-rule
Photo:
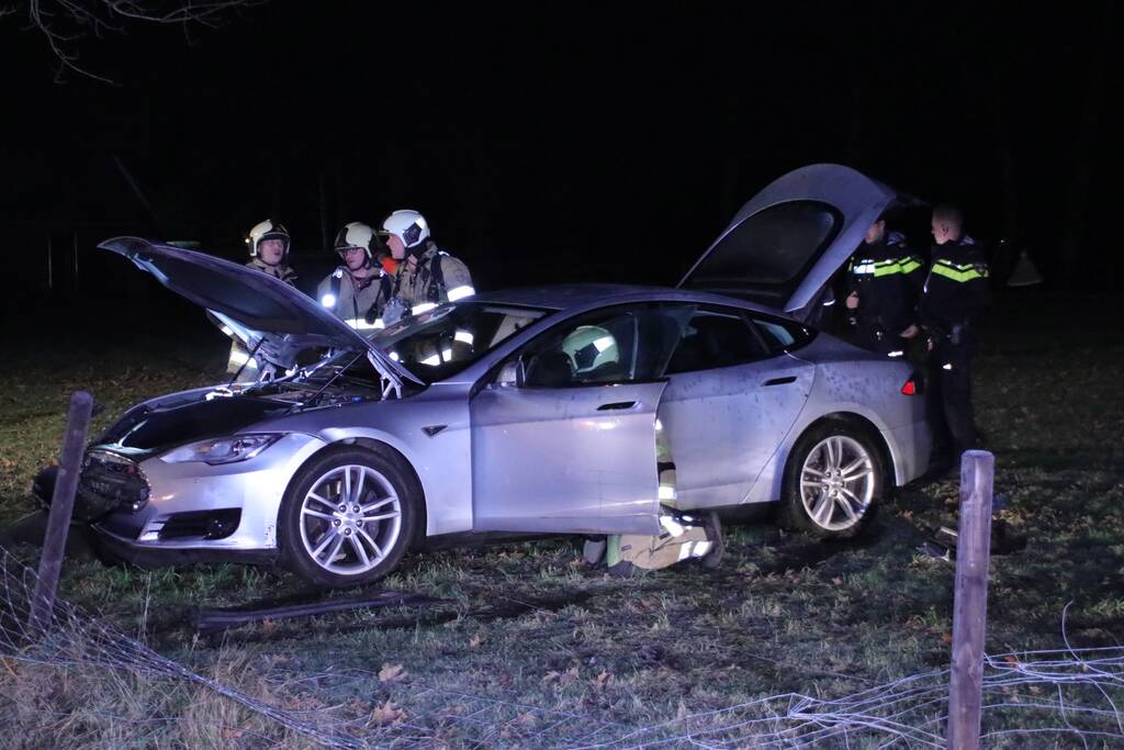
M 124 255 L 162 284 L 207 308 L 282 370 L 312 347 L 366 353 L 378 369 L 399 381 L 420 382 L 368 338 L 297 289 L 268 273 L 220 257 L 139 237 L 115 237 L 98 245 Z

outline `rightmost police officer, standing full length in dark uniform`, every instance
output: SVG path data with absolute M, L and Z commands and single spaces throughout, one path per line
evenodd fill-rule
M 991 300 L 987 257 L 963 232 L 955 206 L 933 209 L 932 264 L 918 305 L 928 336 L 926 417 L 933 432 L 931 475 L 954 469 L 960 454 L 976 444 L 971 400 L 971 358 L 976 325 Z

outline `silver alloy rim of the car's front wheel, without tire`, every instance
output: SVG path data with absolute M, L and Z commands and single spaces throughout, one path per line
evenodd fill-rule
M 390 481 L 361 464 L 336 467 L 312 482 L 300 505 L 300 541 L 321 569 L 359 576 L 387 559 L 402 525 Z

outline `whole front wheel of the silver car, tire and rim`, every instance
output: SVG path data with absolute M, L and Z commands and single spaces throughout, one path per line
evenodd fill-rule
M 278 518 L 283 564 L 330 588 L 384 578 L 410 546 L 422 497 L 404 461 L 362 448 L 325 452 L 293 477 Z

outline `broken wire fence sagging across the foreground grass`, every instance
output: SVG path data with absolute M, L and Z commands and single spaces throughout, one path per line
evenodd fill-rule
M 254 683 L 268 698 L 207 677 L 156 653 L 136 639 L 57 600 L 49 627 L 27 630 L 36 575 L 0 548 L 0 696 L 19 670 L 127 670 L 170 684 L 191 684 L 236 702 L 264 720 L 243 739 L 266 746 L 285 732 L 329 748 L 566 747 L 566 748 L 943 748 L 949 671 L 935 670 L 828 698 L 786 693 L 717 711 L 687 713 L 637 726 L 627 713 L 566 711 L 442 689 L 438 676 L 396 686 L 393 701 L 372 701 L 374 672 L 348 669 L 300 674 L 265 663 Z M 1064 630 L 1063 630 L 1064 636 Z M 1068 643 L 1067 643 L 1068 647 Z M 985 659 L 984 739 L 991 747 L 1124 742 L 1124 648 L 1004 653 Z M 281 701 L 288 697 L 288 702 Z M 315 699 L 310 699 L 315 698 Z M 312 707 L 287 707 L 287 705 Z M 580 705 L 580 704 L 579 704 Z M 42 711 L 51 711 L 43 707 Z M 0 715 L 7 706 L 0 705 Z M 60 712 L 65 713 L 65 712 Z M 65 716 L 63 716 L 64 719 Z M 136 722 L 137 737 L 155 737 L 178 716 Z M 145 724 L 145 725 L 142 725 Z

